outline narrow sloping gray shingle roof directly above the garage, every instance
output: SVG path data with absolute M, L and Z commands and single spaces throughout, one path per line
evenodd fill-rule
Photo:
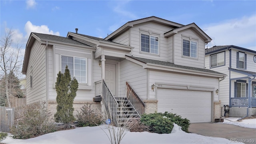
M 195 67 L 191 67 L 191 66 L 182 66 L 182 65 L 174 64 L 174 63 L 171 63 L 171 62 L 164 62 L 164 61 L 160 61 L 160 60 L 139 58 L 139 57 L 135 57 L 135 56 L 128 56 L 128 57 L 133 58 L 134 60 L 138 60 L 140 62 L 143 62 L 145 64 L 147 64 L 147 63 L 159 64 L 159 65 L 163 65 L 163 66 L 172 66 L 172 67 L 184 68 L 184 69 L 188 69 L 188 70 L 197 70 L 197 71 L 201 71 L 201 72 L 210 72 L 210 73 L 213 73 L 213 74 L 223 74 L 223 73 L 216 72 L 216 71 L 213 71 L 213 70 L 208 70 L 208 69 L 204 69 L 204 68 L 195 68 Z

